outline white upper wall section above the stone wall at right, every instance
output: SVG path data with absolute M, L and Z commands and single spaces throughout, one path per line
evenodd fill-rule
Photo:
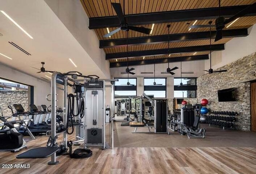
M 225 44 L 225 50 L 212 52 L 212 69 L 230 64 L 246 55 L 256 52 L 256 24 L 248 29 L 248 36 L 233 38 Z M 205 60 L 206 69 L 210 60 Z

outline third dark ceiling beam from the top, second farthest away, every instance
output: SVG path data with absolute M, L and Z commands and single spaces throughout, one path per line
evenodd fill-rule
M 224 44 L 215 44 L 212 45 L 212 50 L 224 50 Z M 188 47 L 179 47 L 179 48 L 168 48 L 166 49 L 158 49 L 158 50 L 143 50 L 143 51 L 133 51 L 133 52 L 118 52 L 106 54 L 106 60 L 115 59 L 115 58 L 124 58 L 124 57 L 138 57 L 138 56 L 153 56 L 153 55 L 162 55 L 162 54 L 176 54 L 176 53 L 184 53 L 184 52 L 201 52 L 201 51 L 209 51 L 210 45 L 202 45 L 202 46 L 188 46 Z

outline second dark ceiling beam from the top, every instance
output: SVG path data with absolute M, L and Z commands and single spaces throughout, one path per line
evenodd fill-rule
M 204 40 L 209 39 L 210 32 L 194 32 L 194 33 L 180 33 L 170 34 L 170 42 L 182 42 L 192 40 Z M 215 38 L 216 31 L 212 32 L 212 38 Z M 234 29 L 234 30 L 223 30 L 222 38 L 234 38 L 248 36 L 247 28 Z M 100 40 L 100 48 L 113 48 L 118 46 L 127 45 L 138 45 L 138 44 L 161 44 L 168 42 L 168 34 L 159 36 L 146 36 L 138 38 L 126 38 L 123 39 L 111 39 L 111 40 Z

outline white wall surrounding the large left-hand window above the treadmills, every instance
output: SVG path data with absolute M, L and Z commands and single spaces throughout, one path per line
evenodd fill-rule
M 4 64 L 0 63 L 0 78 L 5 78 L 15 82 L 20 82 L 30 86 L 34 86 L 34 104 L 41 106 L 41 104 L 50 105 L 46 100 L 46 95 L 51 93 L 50 83 L 14 70 Z

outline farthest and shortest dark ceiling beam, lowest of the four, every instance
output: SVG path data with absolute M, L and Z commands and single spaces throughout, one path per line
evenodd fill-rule
M 208 54 L 198 55 L 198 56 L 183 56 L 183 57 L 174 57 L 174 58 L 158 58 L 158 59 L 146 59 L 146 60 L 134 60 L 128 61 L 129 66 L 135 65 L 148 65 L 148 64 L 164 64 L 169 62 L 184 62 L 184 61 L 192 61 L 192 60 L 206 60 L 209 59 Z M 116 67 L 124 67 L 127 66 L 127 62 L 111 62 L 110 68 Z

